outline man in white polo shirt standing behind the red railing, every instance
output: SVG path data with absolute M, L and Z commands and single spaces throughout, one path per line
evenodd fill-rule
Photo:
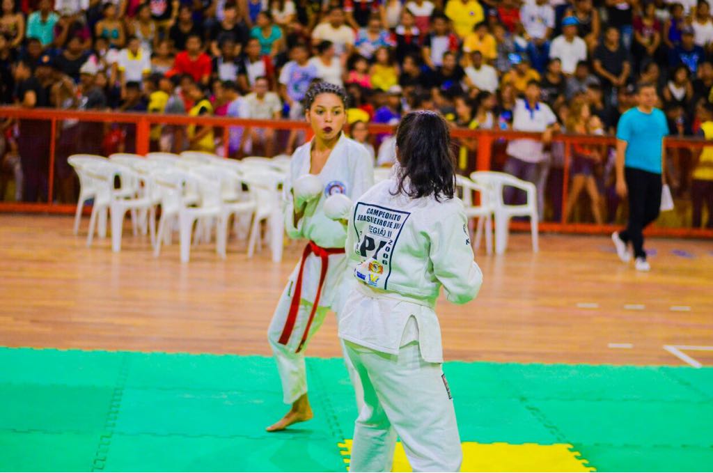
M 513 110 L 513 130 L 540 132 L 540 141 L 518 139 L 508 143 L 508 161 L 503 171 L 508 174 L 528 180 L 538 188 L 538 214 L 543 214 L 543 185 L 547 174 L 547 156 L 544 146 L 552 141 L 552 133 L 559 130 L 557 117 L 552 109 L 540 101 L 540 84 L 530 81 L 525 88 L 525 98 L 515 101 Z M 506 188 L 504 198 L 506 203 L 522 203 L 522 196 L 514 199 L 514 188 Z

